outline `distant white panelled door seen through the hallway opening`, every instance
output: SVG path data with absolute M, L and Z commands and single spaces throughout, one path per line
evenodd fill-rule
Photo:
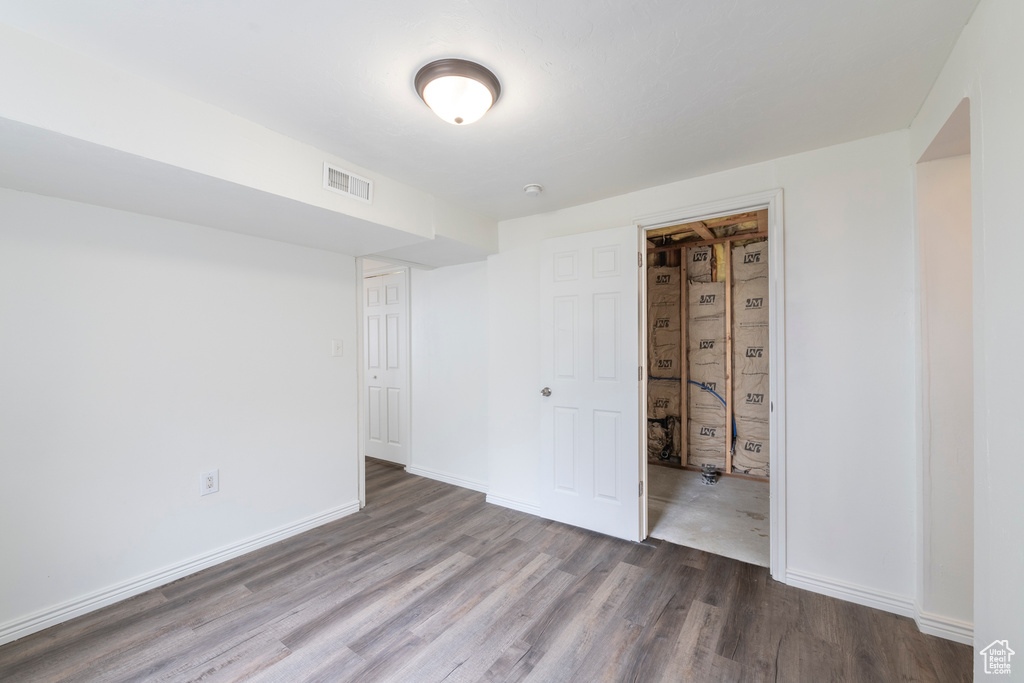
M 365 278 L 367 456 L 409 465 L 406 272 Z

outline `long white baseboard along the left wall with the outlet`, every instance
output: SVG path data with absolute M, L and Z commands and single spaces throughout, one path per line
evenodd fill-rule
M 196 573 L 197 571 L 206 569 L 207 567 L 211 567 L 240 555 L 245 555 L 246 553 L 258 550 L 264 546 L 269 546 L 278 541 L 296 536 L 297 533 L 308 531 L 311 528 L 315 528 L 322 524 L 327 524 L 328 522 L 335 521 L 336 519 L 341 519 L 342 517 L 346 517 L 358 511 L 358 501 L 352 501 L 351 503 L 347 503 L 332 510 L 327 510 L 319 514 L 312 515 L 311 517 L 300 519 L 292 524 L 279 526 L 278 528 L 265 533 L 250 537 L 244 541 L 240 541 L 239 543 L 224 546 L 212 552 L 204 553 L 203 555 L 198 555 L 182 562 L 178 562 L 177 564 L 166 566 L 162 569 L 158 569 L 141 577 L 136 577 L 135 579 L 130 579 L 120 584 L 116 584 L 115 586 L 104 588 L 94 593 L 89 593 L 88 595 L 84 595 L 80 598 L 68 600 L 67 602 L 62 602 L 52 607 L 41 609 L 27 616 L 22 616 L 7 622 L 6 624 L 0 624 L 0 645 L 17 640 L 18 638 L 24 638 L 29 634 L 42 631 L 43 629 L 60 624 L 61 622 L 67 622 L 68 620 L 75 618 L 76 616 L 81 616 L 82 614 L 99 609 L 100 607 L 112 605 L 115 602 L 120 602 L 121 600 L 144 593 L 151 589 L 159 588 L 171 583 L 172 581 L 177 581 L 182 577 L 187 577 L 190 573 Z

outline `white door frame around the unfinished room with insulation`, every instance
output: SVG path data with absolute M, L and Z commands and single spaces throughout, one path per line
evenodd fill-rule
M 768 395 L 771 415 L 769 418 L 768 463 L 770 476 L 769 492 L 769 546 L 771 549 L 769 569 L 772 579 L 785 583 L 785 250 L 782 220 L 782 188 L 769 189 L 753 195 L 744 195 L 716 202 L 691 205 L 633 220 L 639 232 L 639 252 L 643 268 L 647 271 L 647 230 L 668 227 L 679 223 L 689 223 L 729 216 L 746 211 L 768 211 L 768 348 L 769 377 Z M 646 283 L 646 279 L 643 281 Z M 640 287 L 640 367 L 647 367 L 647 287 Z M 647 424 L 647 373 L 642 374 L 640 386 L 641 434 L 646 435 Z M 641 440 L 643 436 L 641 437 Z M 640 536 L 647 538 L 647 449 L 640 449 L 640 481 L 643 496 L 640 499 Z

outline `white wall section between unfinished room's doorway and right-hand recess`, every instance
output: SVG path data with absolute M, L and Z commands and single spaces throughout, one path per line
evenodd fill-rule
M 854 596 L 889 593 L 899 610 L 913 595 L 916 481 L 906 135 L 780 160 L 779 184 L 787 564 Z

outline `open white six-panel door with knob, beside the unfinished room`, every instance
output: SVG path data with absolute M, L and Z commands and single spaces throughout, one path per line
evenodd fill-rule
M 542 245 L 541 510 L 640 539 L 637 228 Z M 549 395 L 545 395 L 549 394 Z

